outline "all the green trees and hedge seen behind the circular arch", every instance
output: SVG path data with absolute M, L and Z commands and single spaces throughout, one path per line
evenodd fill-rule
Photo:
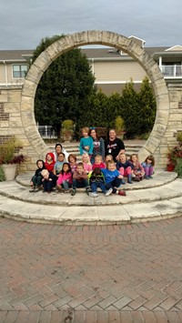
M 33 62 L 47 46 L 64 36 L 43 38 L 35 49 Z M 94 82 L 95 76 L 79 48 L 57 57 L 37 86 L 36 121 L 53 126 L 59 136 L 63 120 L 71 119 L 78 135 L 83 126 L 117 127 L 116 117 L 122 116 L 127 138 L 150 134 L 156 117 L 156 99 L 147 77 L 138 93 L 131 80 L 121 96 L 96 92 Z

